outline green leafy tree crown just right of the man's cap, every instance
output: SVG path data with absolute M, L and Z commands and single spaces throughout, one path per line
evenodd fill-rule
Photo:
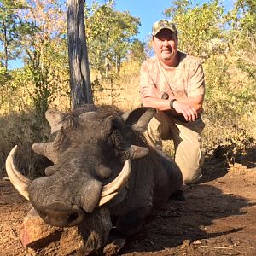
M 219 5 L 218 0 L 201 6 L 179 0 L 172 2 L 172 5 L 165 10 L 165 14 L 177 24 L 179 49 L 207 58 L 211 40 L 222 38 L 220 26 L 224 8 Z

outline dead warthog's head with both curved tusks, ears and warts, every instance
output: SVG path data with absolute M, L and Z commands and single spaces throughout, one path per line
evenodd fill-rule
M 124 200 L 131 160 L 148 154 L 140 132 L 154 113 L 137 108 L 124 114 L 107 106 L 85 106 L 70 114 L 48 110 L 55 139 L 32 149 L 54 165 L 45 169 L 46 177 L 31 181 L 15 167 L 15 146 L 6 160 L 9 178 L 47 224 L 77 225 L 109 201 Z

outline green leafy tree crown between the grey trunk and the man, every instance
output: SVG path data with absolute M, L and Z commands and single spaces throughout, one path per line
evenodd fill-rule
M 108 77 L 110 67 L 119 72 L 121 62 L 132 49 L 140 21 L 129 12 L 113 9 L 114 2 L 87 8 L 85 20 L 90 67 Z

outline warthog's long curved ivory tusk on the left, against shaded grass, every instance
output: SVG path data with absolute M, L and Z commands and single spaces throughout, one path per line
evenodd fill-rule
M 9 155 L 5 162 L 6 172 L 11 183 L 15 186 L 21 195 L 23 195 L 28 201 L 28 187 L 31 185 L 32 181 L 23 176 L 15 166 L 15 152 L 17 145 L 9 152 Z

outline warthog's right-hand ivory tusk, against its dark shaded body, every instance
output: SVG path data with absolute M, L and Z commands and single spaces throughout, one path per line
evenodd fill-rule
M 106 202 L 110 201 L 115 195 L 117 195 L 117 190 L 122 188 L 125 183 L 127 183 L 131 174 L 131 160 L 126 160 L 122 171 L 119 176 L 116 177 L 111 183 L 103 186 L 102 189 L 102 199 L 99 206 L 102 206 Z

